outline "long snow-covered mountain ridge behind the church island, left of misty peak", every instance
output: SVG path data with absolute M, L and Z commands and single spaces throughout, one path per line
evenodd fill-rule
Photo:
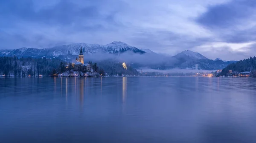
M 112 53 L 119 54 L 126 51 L 131 51 L 134 53 L 145 53 L 143 50 L 140 50 L 136 47 L 132 47 L 123 42 L 114 41 L 107 45 L 99 44 L 70 44 L 70 45 L 61 45 L 55 46 L 52 48 L 20 48 L 15 50 L 0 50 L 0 56 L 18 56 L 18 57 L 56 57 L 56 56 L 72 56 L 79 55 L 80 48 L 82 47 L 85 54 L 93 53 Z

